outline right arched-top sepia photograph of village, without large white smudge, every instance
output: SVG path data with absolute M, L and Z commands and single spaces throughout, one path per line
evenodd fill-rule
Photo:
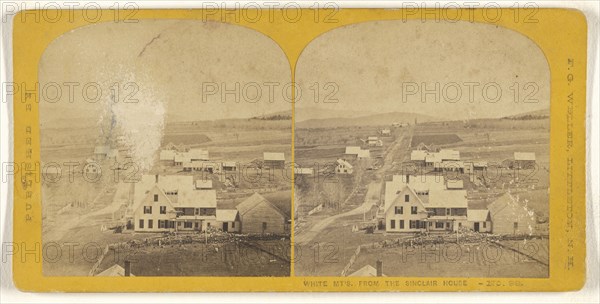
M 549 277 L 551 75 L 532 40 L 365 22 L 314 39 L 295 79 L 296 276 Z

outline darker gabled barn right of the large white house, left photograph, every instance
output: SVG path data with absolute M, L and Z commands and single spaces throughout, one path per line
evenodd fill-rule
M 241 233 L 284 234 L 286 216 L 262 195 L 254 193 L 237 205 Z

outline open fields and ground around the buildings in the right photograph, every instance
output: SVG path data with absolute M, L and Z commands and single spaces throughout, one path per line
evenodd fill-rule
M 335 127 L 331 133 L 322 134 L 321 129 L 304 128 L 296 131 L 296 159 L 307 161 L 317 159 L 332 161 L 344 153 L 344 147 L 356 142 L 356 138 L 377 135 L 376 131 L 383 126 Z M 390 127 L 390 126 L 387 126 Z M 370 129 L 365 132 L 365 129 Z M 389 181 L 394 174 L 403 174 L 404 164 L 410 161 L 410 152 L 421 143 L 435 149 L 454 149 L 460 151 L 462 161 L 487 161 L 497 164 L 500 172 L 487 172 L 474 180 L 468 174 L 458 175 L 468 191 L 468 206 L 471 209 L 485 209 L 499 195 L 510 189 L 521 202 L 535 212 L 538 224 L 534 227 L 536 235 L 548 234 L 548 187 L 549 187 L 549 120 L 548 119 L 478 119 L 471 121 L 425 122 L 411 128 L 394 129 L 391 137 L 384 142 L 384 148 L 376 157 L 381 160 L 381 169 L 362 172 L 356 181 L 355 188 L 364 187 L 372 181 Z M 345 132 L 344 132 L 345 131 Z M 360 135 L 355 135 L 360 134 Z M 300 142 L 298 140 L 300 138 Z M 384 138 L 386 139 L 386 138 Z M 360 142 L 357 142 L 359 145 Z M 396 145 L 397 149 L 387 150 Z M 503 167 L 506 160 L 512 160 L 514 152 L 535 152 L 535 170 L 515 170 Z M 433 172 L 424 172 L 433 174 Z M 493 174 L 492 174 L 493 173 Z M 453 178 L 456 173 L 438 173 Z M 479 173 L 478 173 L 479 174 Z M 499 174 L 499 175 L 498 175 Z M 358 176 L 358 174 L 355 174 Z M 303 177 L 304 178 L 304 177 Z M 308 179 L 310 180 L 310 179 Z M 314 179 L 313 179 L 314 180 Z M 363 185 L 363 186 L 361 186 Z M 324 208 L 323 211 L 308 216 L 310 207 L 315 206 L 323 195 L 314 191 L 314 184 L 302 181 L 296 184 L 297 218 L 296 236 L 312 231 L 331 216 L 342 212 Z M 381 195 L 385 187 L 381 187 Z M 349 191 L 346 190 L 346 194 Z M 363 196 L 364 198 L 364 196 Z M 304 205 L 308 206 L 303 208 Z M 354 205 L 356 207 L 357 205 Z M 329 210 L 328 210 L 329 209 Z M 346 209 L 347 210 L 347 209 Z M 295 265 L 295 272 L 300 276 L 340 276 L 348 261 L 357 251 L 363 248 L 356 262 L 348 273 L 369 264 L 375 266 L 377 259 L 384 265 L 384 274 L 388 276 L 482 276 L 482 277 L 547 277 L 548 276 L 548 241 L 536 240 L 539 245 L 537 258 L 546 264 L 536 262 L 510 249 L 518 243 L 502 241 L 492 244 L 489 249 L 481 246 L 469 247 L 472 258 L 452 263 L 444 261 L 420 263 L 419 255 L 407 256 L 402 261 L 398 248 L 370 248 L 370 245 L 382 241 L 410 239 L 412 233 L 365 233 L 365 230 L 353 231 L 354 226 L 365 227 L 373 223 L 374 213 L 336 218 L 331 224 L 316 233 L 311 241 L 297 244 L 296 252 L 302 251 L 302 258 Z M 314 234 L 314 233 L 313 233 Z M 299 239 L 303 239 L 300 237 Z M 475 244 L 471 244 L 475 245 Z M 491 262 L 487 259 L 487 250 L 500 252 L 500 258 Z M 298 253 L 297 253 L 298 254 Z M 514 256 L 517 259 L 514 259 Z M 520 258 L 519 258 L 520 257 Z M 415 260 L 417 259 L 417 260 Z M 518 263 L 515 263 L 518 261 Z

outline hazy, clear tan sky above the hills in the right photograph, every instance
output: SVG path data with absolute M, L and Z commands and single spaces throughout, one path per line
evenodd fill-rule
M 345 26 L 313 40 L 300 56 L 296 75 L 305 88 L 297 107 L 462 119 L 549 109 L 550 104 L 550 71 L 541 50 L 517 32 L 478 23 Z M 314 83 L 322 88 L 319 103 L 306 89 Z M 322 103 L 333 92 L 324 88 L 327 83 L 338 89 L 336 104 Z M 435 92 L 436 83 L 439 103 L 434 93 L 422 95 Z M 515 92 L 519 103 L 514 103 Z M 536 103 L 522 103 L 529 93 Z

